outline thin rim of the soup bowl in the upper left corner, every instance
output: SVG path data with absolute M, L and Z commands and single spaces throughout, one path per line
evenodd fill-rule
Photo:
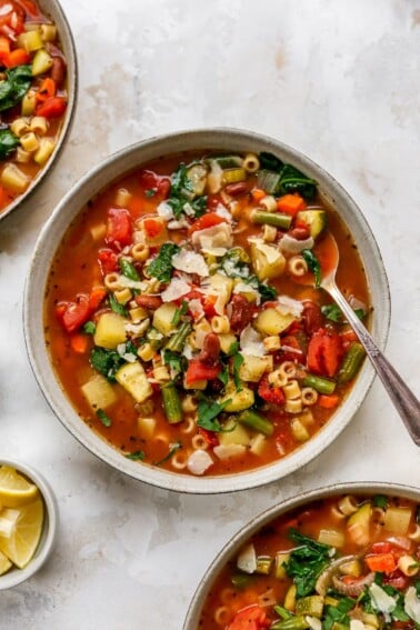
M 0 212 L 0 221 L 9 217 L 13 210 L 17 210 L 21 206 L 28 202 L 28 198 L 38 190 L 41 182 L 49 176 L 52 169 L 58 162 L 59 154 L 63 148 L 64 141 L 68 138 L 76 114 L 76 103 L 78 96 L 78 60 L 76 56 L 76 44 L 73 36 L 70 29 L 70 24 L 67 20 L 64 11 L 58 0 L 37 0 L 41 11 L 48 18 L 51 18 L 57 24 L 60 42 L 67 61 L 67 72 L 68 72 L 68 101 L 64 121 L 61 127 L 61 131 L 56 144 L 56 148 L 47 163 L 47 166 L 39 171 L 36 178 L 30 182 L 28 189 L 23 194 L 19 196 L 14 201 L 12 201 L 6 210 Z

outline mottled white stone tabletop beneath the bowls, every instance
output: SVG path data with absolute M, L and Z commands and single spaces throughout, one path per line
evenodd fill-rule
M 178 496 L 96 460 L 57 421 L 28 364 L 24 277 L 37 234 L 98 160 L 157 133 L 236 126 L 272 134 L 337 177 L 389 274 L 388 356 L 419 389 L 420 2 L 62 0 L 78 46 L 79 108 L 51 179 L 0 223 L 0 457 L 57 492 L 56 552 L 0 592 L 1 630 L 177 630 L 199 578 L 242 523 L 331 481 L 420 486 L 419 450 L 379 381 L 347 431 L 262 490 Z

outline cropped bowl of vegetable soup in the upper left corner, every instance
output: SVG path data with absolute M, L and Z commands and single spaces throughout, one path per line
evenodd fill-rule
M 56 0 L 0 4 L 0 220 L 56 162 L 77 92 L 74 42 Z

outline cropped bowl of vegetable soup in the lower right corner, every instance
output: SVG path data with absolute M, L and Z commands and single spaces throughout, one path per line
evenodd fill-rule
M 350 483 L 247 524 L 206 572 L 183 630 L 414 630 L 420 492 Z

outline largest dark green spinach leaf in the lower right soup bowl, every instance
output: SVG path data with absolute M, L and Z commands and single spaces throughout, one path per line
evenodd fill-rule
M 289 530 L 288 536 L 299 547 L 291 550 L 284 569 L 287 574 L 293 578 L 298 597 L 306 597 L 313 590 L 319 576 L 329 566 L 332 548 L 301 534 L 294 528 Z

